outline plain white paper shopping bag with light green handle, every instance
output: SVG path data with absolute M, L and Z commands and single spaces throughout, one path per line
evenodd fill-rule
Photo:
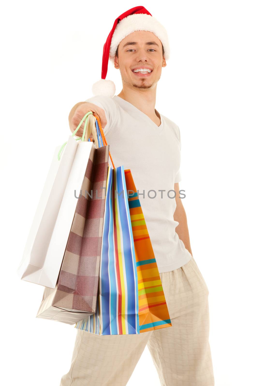
M 85 133 L 93 117 L 88 112 Z M 79 129 L 79 126 L 75 132 Z M 88 131 L 87 131 L 88 130 Z M 96 132 L 93 133 L 96 137 Z M 73 133 L 74 135 L 74 133 Z M 92 149 L 92 142 L 78 141 L 69 136 L 65 151 L 60 154 L 56 147 L 54 158 L 39 200 L 38 208 L 27 238 L 22 261 L 17 274 L 22 280 L 55 288 L 65 247 L 71 229 L 78 198 L 74 190 L 80 190 L 85 169 Z M 95 139 L 95 138 L 94 138 Z M 63 144 L 63 146 L 65 145 Z M 96 141 L 96 146 L 98 142 Z

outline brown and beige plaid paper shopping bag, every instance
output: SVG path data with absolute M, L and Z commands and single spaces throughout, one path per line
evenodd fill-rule
M 108 156 L 109 145 L 92 146 L 56 288 L 45 287 L 37 318 L 74 324 L 96 312 Z

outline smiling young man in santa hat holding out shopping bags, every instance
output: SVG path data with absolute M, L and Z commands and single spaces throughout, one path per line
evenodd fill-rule
M 95 335 L 86 323 L 76 323 L 71 367 L 60 386 L 125 386 L 146 345 L 161 385 L 214 385 L 209 291 L 192 256 L 179 193 L 180 132 L 155 110 L 157 82 L 168 57 L 166 30 L 144 7 L 120 15 L 104 45 L 103 79 L 92 89 L 95 97 L 72 108 L 69 124 L 73 132 L 87 111 L 99 116 L 114 164 L 131 169 L 172 327 L 136 335 Z M 104 80 L 108 59 L 120 69 L 123 83 L 115 96 L 113 82 Z M 110 85 L 113 90 L 107 96 Z M 83 126 L 77 135 L 82 131 Z

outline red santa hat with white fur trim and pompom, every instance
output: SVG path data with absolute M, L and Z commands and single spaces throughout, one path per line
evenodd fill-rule
M 106 95 L 113 97 L 116 86 L 112 80 L 106 80 L 108 60 L 114 64 L 116 49 L 119 43 L 129 34 L 135 31 L 150 31 L 162 42 L 164 57 L 169 59 L 169 39 L 163 25 L 153 17 L 146 8 L 139 6 L 129 9 L 115 20 L 108 39 L 103 47 L 101 80 L 92 86 L 93 95 Z

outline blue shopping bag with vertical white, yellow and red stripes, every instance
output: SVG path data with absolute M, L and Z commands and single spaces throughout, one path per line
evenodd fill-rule
M 139 334 L 138 280 L 124 167 L 108 167 L 97 307 L 75 328 Z

